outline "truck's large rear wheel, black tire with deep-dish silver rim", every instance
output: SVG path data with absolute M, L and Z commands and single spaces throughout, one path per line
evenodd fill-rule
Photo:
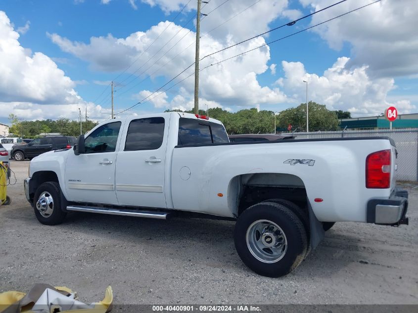
M 279 277 L 297 268 L 307 250 L 305 227 L 285 205 L 262 202 L 246 209 L 235 224 L 236 251 L 256 273 Z

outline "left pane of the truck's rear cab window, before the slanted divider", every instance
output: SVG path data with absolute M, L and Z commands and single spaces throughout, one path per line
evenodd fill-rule
M 212 143 L 209 123 L 181 118 L 179 121 L 179 145 Z

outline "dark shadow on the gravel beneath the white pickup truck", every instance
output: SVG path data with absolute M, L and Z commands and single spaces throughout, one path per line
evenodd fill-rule
M 181 218 L 161 221 L 76 213 L 69 214 L 65 224 L 76 226 L 77 231 L 89 235 L 136 245 L 139 249 L 165 251 L 170 258 L 182 262 L 252 273 L 236 254 L 234 222 Z M 362 260 L 362 247 L 355 235 L 331 230 L 295 274 L 328 277 Z

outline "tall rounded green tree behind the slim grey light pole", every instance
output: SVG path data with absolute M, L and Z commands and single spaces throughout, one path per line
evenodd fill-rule
M 338 128 L 339 121 L 334 111 L 328 110 L 324 104 L 309 101 L 309 130 L 330 130 Z M 281 111 L 277 116 L 280 128 L 287 128 L 288 124 L 293 129 L 306 130 L 306 103 L 301 103 L 295 108 Z

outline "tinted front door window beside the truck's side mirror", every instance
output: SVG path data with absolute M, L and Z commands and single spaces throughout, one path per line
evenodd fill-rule
M 116 150 L 121 122 L 100 126 L 85 139 L 86 153 L 113 152 Z

